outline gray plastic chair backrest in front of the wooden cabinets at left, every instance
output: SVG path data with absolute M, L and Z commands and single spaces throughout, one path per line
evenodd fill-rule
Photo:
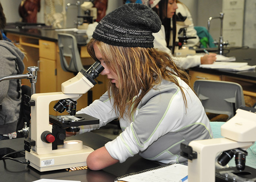
M 78 73 L 84 69 L 75 36 L 68 33 L 58 33 L 58 46 L 61 67 L 64 71 Z M 69 62 L 66 58 L 70 58 Z

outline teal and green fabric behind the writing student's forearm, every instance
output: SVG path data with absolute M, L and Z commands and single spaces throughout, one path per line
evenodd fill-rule
M 195 26 L 194 28 L 195 28 L 197 35 L 201 42 L 200 48 L 207 48 L 207 46 L 217 47 L 213 43 L 214 42 L 213 37 L 210 35 L 210 33 L 208 32 L 208 30 L 205 27 Z M 208 42 L 206 40 L 208 40 Z

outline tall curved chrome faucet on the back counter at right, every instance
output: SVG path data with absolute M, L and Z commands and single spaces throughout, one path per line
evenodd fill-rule
M 218 45 L 218 50 L 219 50 L 219 54 L 222 55 L 223 53 L 223 46 L 227 46 L 229 43 L 228 41 L 223 41 L 223 36 L 222 36 L 222 32 L 223 32 L 223 16 L 224 13 L 219 13 L 219 16 L 212 16 L 209 17 L 208 21 L 207 21 L 207 27 L 208 27 L 208 32 L 210 32 L 210 21 L 212 19 L 216 19 L 219 18 L 221 20 L 221 31 L 220 31 L 220 36 L 219 36 L 219 41 L 214 41 L 215 45 Z

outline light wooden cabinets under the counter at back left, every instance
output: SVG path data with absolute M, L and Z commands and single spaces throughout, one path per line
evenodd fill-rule
M 15 33 L 7 33 L 7 37 L 16 43 L 16 46 L 19 47 L 25 55 L 23 59 L 25 65 L 23 74 L 28 72 L 27 67 L 29 66 L 39 67 L 36 93 L 60 92 L 61 83 L 75 76 L 72 72 L 62 70 L 57 42 Z M 81 57 L 84 57 L 82 58 L 82 62 L 85 65 L 92 65 L 94 61 L 85 49 L 86 47 L 81 49 Z M 107 91 L 107 77 L 105 75 L 99 75 L 96 82 L 100 84 L 96 84 L 91 89 L 92 100 L 99 99 L 100 96 Z M 30 81 L 27 79 L 22 79 L 22 84 L 31 86 Z M 56 102 L 57 101 L 51 102 L 49 106 L 49 113 L 52 115 L 60 115 L 60 113 L 52 109 Z M 88 105 L 88 94 L 86 93 L 81 96 L 81 98 L 77 100 L 77 103 L 77 110 L 86 107 Z

